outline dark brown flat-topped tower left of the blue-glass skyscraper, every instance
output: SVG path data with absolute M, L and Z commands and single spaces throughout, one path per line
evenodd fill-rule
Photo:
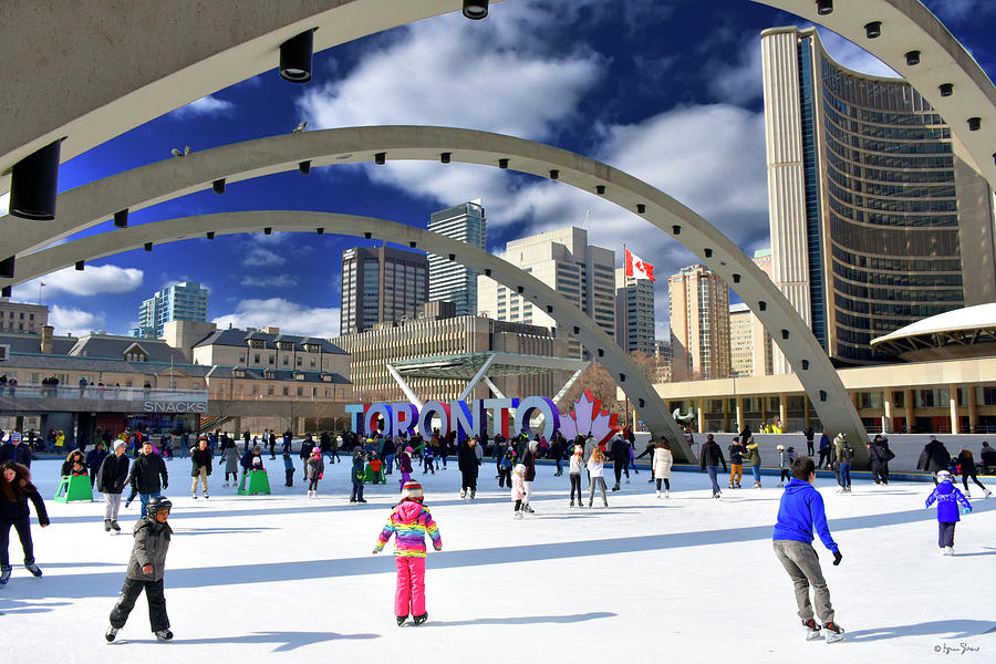
M 354 247 L 342 252 L 340 334 L 416 318 L 428 298 L 424 253 L 392 247 Z

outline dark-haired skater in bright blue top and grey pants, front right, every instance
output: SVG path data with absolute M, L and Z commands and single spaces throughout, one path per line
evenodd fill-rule
M 813 589 L 816 610 L 822 627 L 827 630 L 827 643 L 843 639 L 843 627 L 833 622 L 833 606 L 830 604 L 830 590 L 823 579 L 823 570 L 816 549 L 812 548 L 812 530 L 823 546 L 833 553 L 833 564 L 840 564 L 843 556 L 827 527 L 827 515 L 823 511 L 823 497 L 813 487 L 816 465 L 809 457 L 799 457 L 792 461 L 792 480 L 785 487 L 781 504 L 778 506 L 778 523 L 772 536 L 775 556 L 781 561 L 796 587 L 796 603 L 799 605 L 799 618 L 806 629 L 806 640 L 820 637 L 821 624 L 813 620 L 812 604 L 809 601 L 809 587 Z

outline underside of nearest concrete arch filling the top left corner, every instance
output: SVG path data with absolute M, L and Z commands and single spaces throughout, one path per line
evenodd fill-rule
M 501 2 L 502 0 L 491 0 Z M 60 138 L 68 162 L 205 95 L 274 69 L 317 28 L 314 52 L 460 9 L 460 0 L 0 2 L 0 194 L 19 160 Z M 71 35 L 71 37 L 68 37 Z M 154 39 L 149 39 L 154 35 Z M 54 44 L 71 49 L 40 53 Z

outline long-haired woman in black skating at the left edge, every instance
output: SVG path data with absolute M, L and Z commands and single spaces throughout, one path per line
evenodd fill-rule
M 34 543 L 31 541 L 31 523 L 29 521 L 28 500 L 34 504 L 34 513 L 42 528 L 49 525 L 45 504 L 38 489 L 31 484 L 31 471 L 27 466 L 14 461 L 4 461 L 0 466 L 0 585 L 10 580 L 10 527 L 13 526 L 24 549 L 24 567 L 35 577 L 41 570 L 34 564 Z

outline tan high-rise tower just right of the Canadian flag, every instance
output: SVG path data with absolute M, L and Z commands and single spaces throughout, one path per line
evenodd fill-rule
M 705 266 L 683 268 L 671 291 L 672 380 L 729 375 L 729 287 Z

